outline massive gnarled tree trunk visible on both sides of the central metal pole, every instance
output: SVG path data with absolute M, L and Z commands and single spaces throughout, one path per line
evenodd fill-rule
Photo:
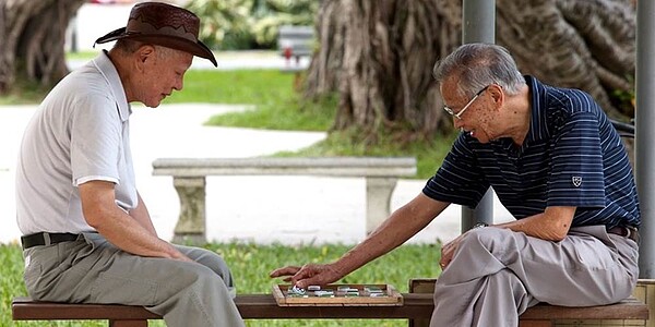
M 324 0 L 306 96 L 340 95 L 336 130 L 450 131 L 431 73 L 461 24 L 458 0 Z M 615 118 L 633 113 L 612 93 L 632 93 L 634 32 L 632 0 L 497 0 L 497 41 L 521 71 L 584 89 Z

